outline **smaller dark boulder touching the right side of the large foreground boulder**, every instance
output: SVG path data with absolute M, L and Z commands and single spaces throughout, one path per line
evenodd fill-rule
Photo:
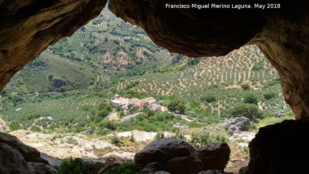
M 204 164 L 203 170 L 224 170 L 230 158 L 230 147 L 226 143 L 209 144 L 196 149 L 198 156 Z

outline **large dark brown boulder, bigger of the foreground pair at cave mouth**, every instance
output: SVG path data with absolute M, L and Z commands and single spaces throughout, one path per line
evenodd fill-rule
M 192 174 L 204 168 L 193 146 L 175 137 L 152 141 L 135 154 L 134 160 L 141 165 L 142 173 L 162 170 L 171 174 Z

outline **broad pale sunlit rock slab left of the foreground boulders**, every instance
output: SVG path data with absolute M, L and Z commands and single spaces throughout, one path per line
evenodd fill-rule
M 15 135 L 20 141 L 34 147 L 42 153 L 59 159 L 82 158 L 84 161 L 91 160 L 95 163 L 105 163 L 105 158 L 113 157 L 122 161 L 134 158 L 135 153 L 123 152 L 118 147 L 97 139 L 88 139 L 85 135 L 77 134 L 43 134 L 38 132 L 16 130 L 10 134 Z M 98 158 L 96 152 L 108 149 L 110 152 Z M 97 152 L 98 153 L 98 152 Z

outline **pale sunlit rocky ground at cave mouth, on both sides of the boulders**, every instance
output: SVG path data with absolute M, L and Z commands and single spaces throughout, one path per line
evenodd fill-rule
M 135 141 L 125 139 L 125 146 L 121 148 L 109 143 L 112 134 L 104 138 L 88 138 L 83 134 L 43 134 L 26 130 L 17 130 L 10 134 L 40 151 L 41 157 L 51 165 L 58 166 L 64 159 L 73 157 L 82 158 L 85 163 L 104 166 L 114 161 L 133 161 L 134 155 L 146 147 L 156 135 L 134 130 L 118 133 L 118 136 L 128 137 L 131 133 Z M 171 136 L 171 133 L 164 134 L 166 137 Z M 237 143 L 246 144 L 245 142 L 251 141 L 254 135 L 255 133 L 244 132 L 230 137 L 231 155 L 225 168 L 226 172 L 238 173 L 242 166 L 248 165 L 249 153 L 243 152 L 243 147 Z

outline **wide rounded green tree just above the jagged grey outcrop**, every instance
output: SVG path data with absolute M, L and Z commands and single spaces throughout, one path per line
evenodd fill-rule
M 246 117 L 250 120 L 263 119 L 264 112 L 260 110 L 255 104 L 237 103 L 230 110 L 232 117 Z

